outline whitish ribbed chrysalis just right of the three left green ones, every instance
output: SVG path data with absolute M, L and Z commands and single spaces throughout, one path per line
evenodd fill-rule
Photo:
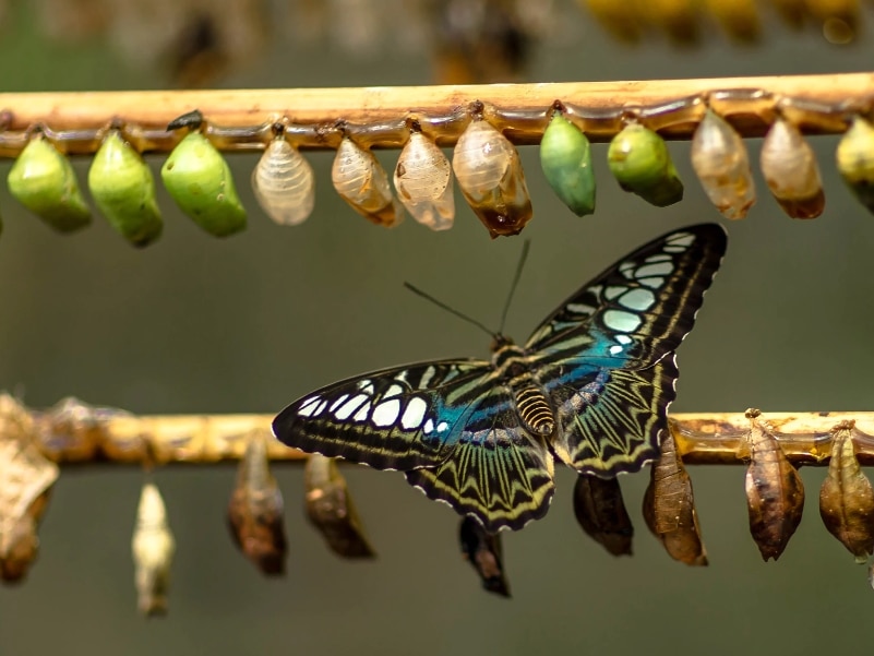
M 315 176 L 300 152 L 278 135 L 252 171 L 252 190 L 261 208 L 280 226 L 296 226 L 312 214 Z

